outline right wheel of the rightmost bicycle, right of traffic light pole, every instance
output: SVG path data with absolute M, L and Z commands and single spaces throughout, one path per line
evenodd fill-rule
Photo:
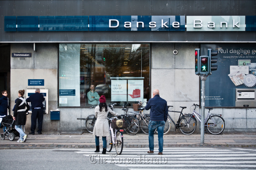
M 207 130 L 213 134 L 213 135 L 218 135 L 221 132 L 223 132 L 224 128 L 225 128 L 225 121 L 224 119 L 219 116 L 219 115 L 213 115 L 211 117 L 209 117 L 209 119 L 206 122 L 206 127 Z M 211 125 L 211 126 L 208 126 Z

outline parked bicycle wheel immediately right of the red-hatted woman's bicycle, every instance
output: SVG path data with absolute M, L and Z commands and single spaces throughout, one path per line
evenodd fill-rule
M 126 117 L 126 121 L 128 122 L 127 128 L 125 128 L 125 132 L 128 135 L 136 135 L 139 132 L 139 120 L 136 117 L 128 116 Z

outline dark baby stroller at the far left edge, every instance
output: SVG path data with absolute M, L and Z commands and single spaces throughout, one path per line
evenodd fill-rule
M 18 137 L 20 133 L 15 129 L 15 120 L 13 120 L 12 115 L 7 115 L 2 118 L 1 124 L 3 125 L 4 133 L 1 133 L 1 139 L 7 138 L 13 141 L 15 137 Z

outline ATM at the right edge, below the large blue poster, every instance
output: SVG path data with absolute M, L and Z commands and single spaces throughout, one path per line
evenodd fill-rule
M 236 107 L 256 107 L 256 89 L 236 89 Z

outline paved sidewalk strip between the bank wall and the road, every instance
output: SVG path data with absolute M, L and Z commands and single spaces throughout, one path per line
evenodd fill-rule
M 154 143 L 158 147 L 157 134 L 154 135 Z M 83 134 L 41 134 L 28 135 L 25 143 L 17 143 L 9 139 L 0 140 L 0 149 L 15 148 L 95 148 L 95 137 L 91 133 Z M 204 144 L 200 144 L 200 134 L 183 135 L 182 133 L 169 133 L 164 135 L 164 147 L 250 147 L 256 148 L 256 133 L 204 135 Z M 102 140 L 100 139 L 100 147 Z M 136 135 L 124 134 L 124 148 L 147 148 L 148 135 L 138 133 Z

